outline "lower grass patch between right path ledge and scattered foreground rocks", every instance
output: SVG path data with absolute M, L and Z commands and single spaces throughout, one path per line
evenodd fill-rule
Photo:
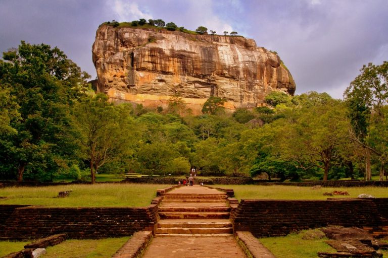
M 308 231 L 289 234 L 282 237 L 259 238 L 260 242 L 267 247 L 277 258 L 312 258 L 317 257 L 317 252 L 336 252 L 324 241 L 327 238 L 304 240 L 302 236 Z

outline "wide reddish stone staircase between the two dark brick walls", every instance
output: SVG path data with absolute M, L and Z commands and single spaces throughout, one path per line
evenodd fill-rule
M 178 193 L 165 193 L 159 205 L 161 220 L 156 236 L 225 236 L 233 233 L 225 193 L 206 193 L 208 188 L 194 187 L 182 186 Z M 201 193 L 200 188 L 205 193 Z M 185 193 L 185 189 L 198 189 L 198 193 Z

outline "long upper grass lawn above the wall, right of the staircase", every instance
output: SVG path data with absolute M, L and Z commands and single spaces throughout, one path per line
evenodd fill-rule
M 384 187 L 322 187 L 311 189 L 307 186 L 283 185 L 214 185 L 227 189 L 234 189 L 235 197 L 241 199 L 278 199 L 278 200 L 326 200 L 330 196 L 323 196 L 324 192 L 333 190 L 347 191 L 349 196 L 332 196 L 333 198 L 357 198 L 360 193 L 368 193 L 374 197 L 388 197 L 388 190 Z M 331 197 L 330 197 L 331 198 Z

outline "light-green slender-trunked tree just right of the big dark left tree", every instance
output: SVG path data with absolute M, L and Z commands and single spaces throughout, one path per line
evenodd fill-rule
M 114 106 L 105 94 L 84 98 L 74 106 L 73 120 L 79 137 L 75 139 L 89 162 L 91 182 L 106 163 L 115 162 L 135 143 L 136 127 L 124 105 Z

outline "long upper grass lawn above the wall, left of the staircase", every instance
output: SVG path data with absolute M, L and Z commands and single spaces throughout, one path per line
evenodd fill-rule
M 0 188 L 0 204 L 49 207 L 144 207 L 156 197 L 156 190 L 170 185 L 106 183 L 40 187 Z M 59 191 L 72 190 L 69 197 L 56 198 Z

